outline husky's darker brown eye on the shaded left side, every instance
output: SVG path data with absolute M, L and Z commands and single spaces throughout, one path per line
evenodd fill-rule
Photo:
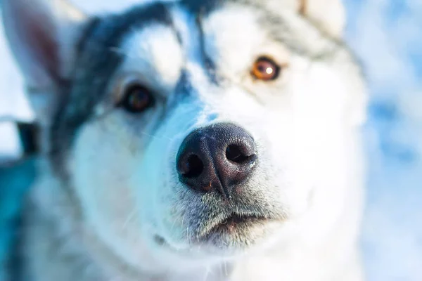
M 130 86 L 124 93 L 122 100 L 122 107 L 125 110 L 133 113 L 143 112 L 153 105 L 153 96 L 143 86 Z

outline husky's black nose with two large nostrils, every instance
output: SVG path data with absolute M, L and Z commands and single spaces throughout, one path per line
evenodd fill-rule
M 252 136 L 234 124 L 197 129 L 181 144 L 177 155 L 179 181 L 194 190 L 217 190 L 224 197 L 245 181 L 257 162 Z

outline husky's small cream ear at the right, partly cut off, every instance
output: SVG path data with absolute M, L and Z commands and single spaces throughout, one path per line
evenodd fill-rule
M 305 15 L 331 36 L 343 37 L 346 13 L 342 0 L 297 0 L 299 13 Z

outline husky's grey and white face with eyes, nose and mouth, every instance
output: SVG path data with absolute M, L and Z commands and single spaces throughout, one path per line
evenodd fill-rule
M 59 67 L 17 55 L 32 88 L 53 85 L 49 148 L 84 225 L 135 266 L 324 233 L 355 176 L 364 98 L 336 34 L 293 1 L 196 2 L 67 11 L 72 32 L 32 51 Z

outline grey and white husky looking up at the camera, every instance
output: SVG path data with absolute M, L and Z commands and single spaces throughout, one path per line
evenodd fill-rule
M 5 0 L 37 115 L 10 280 L 364 280 L 340 0 Z

